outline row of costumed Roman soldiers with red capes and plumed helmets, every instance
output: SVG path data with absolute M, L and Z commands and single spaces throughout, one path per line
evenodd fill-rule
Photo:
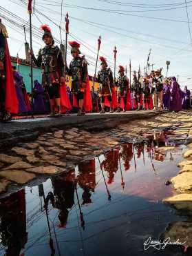
M 67 66 L 66 61 L 63 61 L 60 48 L 54 46 L 50 28 L 47 25 L 43 25 L 41 28 L 45 46 L 39 50 L 37 57 L 34 56 L 32 49 L 30 49 L 30 55 L 36 66 L 43 68 L 42 86 L 49 98 L 51 117 L 70 111 L 74 106 L 78 109 L 78 115 L 91 112 L 93 103 L 89 87 L 88 63 L 85 57 L 81 56 L 80 44 L 76 41 L 69 42 L 72 61 L 70 66 Z M 10 120 L 11 114 L 17 114 L 21 108 L 21 99 L 18 97 L 15 77 L 13 77 L 12 72 L 7 37 L 6 27 L 0 20 L 0 112 L 3 121 Z M 164 108 L 162 91 L 164 83 L 169 82 L 164 81 L 161 70 L 151 72 L 149 76 L 144 78 L 140 77 L 139 72 L 138 76 L 134 72 L 133 82 L 130 85 L 122 66 L 119 66 L 119 76 L 114 81 L 113 73 L 107 66 L 107 60 L 104 57 L 100 57 L 100 65 L 97 80 L 100 84 L 98 93 L 101 114 L 105 113 L 107 104 L 110 112 L 114 112 L 116 108 L 118 112 L 121 109 L 125 111 L 136 108 L 138 110 L 151 108 L 162 110 Z M 17 72 L 14 74 L 17 75 Z M 72 77 L 72 104 L 67 97 L 66 74 Z M 170 110 L 181 110 L 182 94 L 175 77 L 171 79 L 169 101 Z M 175 104 L 178 106 L 175 107 Z

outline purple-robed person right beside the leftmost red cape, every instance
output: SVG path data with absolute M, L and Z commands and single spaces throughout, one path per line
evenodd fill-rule
M 25 99 L 23 95 L 22 85 L 23 85 L 23 77 L 17 72 L 16 67 L 12 66 L 13 77 L 14 77 L 14 85 L 17 92 L 17 99 L 19 101 L 19 113 L 28 112 L 28 108 L 25 104 Z

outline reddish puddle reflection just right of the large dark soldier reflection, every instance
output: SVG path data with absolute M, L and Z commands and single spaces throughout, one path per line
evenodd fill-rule
M 80 164 L 78 166 L 79 175 L 77 177 L 79 186 L 83 189 L 83 204 L 92 203 L 92 193 L 96 187 L 96 168 L 95 159 L 92 159 L 88 163 Z

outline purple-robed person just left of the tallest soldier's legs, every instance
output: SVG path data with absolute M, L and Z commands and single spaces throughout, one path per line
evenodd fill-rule
M 39 81 L 34 81 L 34 114 L 45 114 L 47 112 L 45 106 L 45 90 Z

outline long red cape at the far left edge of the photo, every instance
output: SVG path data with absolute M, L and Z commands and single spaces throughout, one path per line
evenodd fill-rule
M 10 60 L 10 52 L 8 48 L 8 42 L 6 39 L 6 110 L 12 114 L 19 112 L 19 102 L 17 99 L 17 93 L 14 86 L 12 64 Z

